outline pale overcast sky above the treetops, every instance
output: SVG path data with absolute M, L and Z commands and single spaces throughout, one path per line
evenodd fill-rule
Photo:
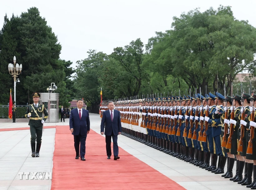
M 196 7 L 204 12 L 219 5 L 232 6 L 234 17 L 248 20 L 256 27 L 255 0 L 9 0 L 0 6 L 0 26 L 5 13 L 20 15 L 37 7 L 40 15 L 57 35 L 62 51 L 60 58 L 75 62 L 87 57 L 89 49 L 111 54 L 115 47 L 128 45 L 141 38 L 144 44 L 171 28 L 172 17 L 179 17 Z

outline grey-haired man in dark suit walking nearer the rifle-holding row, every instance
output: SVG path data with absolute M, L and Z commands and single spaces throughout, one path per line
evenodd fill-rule
M 113 152 L 114 160 L 119 159 L 118 156 L 118 145 L 117 145 L 117 135 L 121 134 L 121 118 L 120 112 L 114 110 L 114 102 L 109 101 L 107 103 L 108 110 L 103 112 L 101 120 L 101 134 L 104 134 L 105 126 L 105 136 L 106 136 L 106 150 L 107 150 L 107 159 L 111 157 L 111 137 L 113 139 Z

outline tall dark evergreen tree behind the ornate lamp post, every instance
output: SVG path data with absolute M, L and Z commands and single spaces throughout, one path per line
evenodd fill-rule
M 22 74 L 18 76 L 21 83 L 17 85 L 17 104 L 29 102 L 33 91 L 47 92 L 47 87 L 54 82 L 60 93 L 60 103 L 67 106 L 71 100 L 72 68 L 70 61 L 59 60 L 61 45 L 52 28 L 47 25 L 45 18 L 40 16 L 36 7 L 12 15 L 9 20 L 5 16 L 4 25 L 0 32 L 0 104 L 6 104 L 13 79 L 7 73 L 8 63 L 15 55 L 17 63 L 22 64 Z M 67 86 L 68 85 L 68 86 Z M 70 89 L 67 89 L 70 88 Z

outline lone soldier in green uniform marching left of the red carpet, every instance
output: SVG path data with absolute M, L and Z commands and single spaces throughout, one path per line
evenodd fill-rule
M 42 132 L 43 132 L 43 123 L 48 117 L 48 113 L 43 104 L 39 104 L 40 94 L 38 92 L 34 92 L 32 94 L 32 98 L 34 103 L 28 105 L 27 111 L 25 114 L 26 118 L 29 118 L 28 125 L 30 126 L 30 143 L 32 150 L 32 157 L 39 157 L 39 151 L 42 143 Z M 44 114 L 44 117 L 42 115 Z M 37 148 L 36 148 L 36 140 L 37 140 Z

